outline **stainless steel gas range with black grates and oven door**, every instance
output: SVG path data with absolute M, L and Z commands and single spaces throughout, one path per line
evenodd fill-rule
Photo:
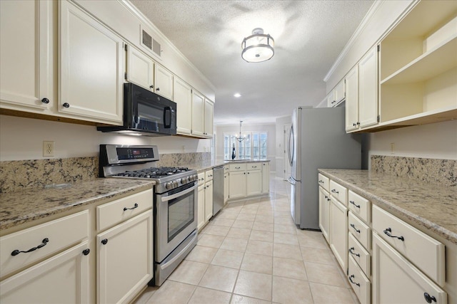
M 100 145 L 100 177 L 152 179 L 154 186 L 154 279 L 160 286 L 197 241 L 196 170 L 156 167 L 157 146 Z

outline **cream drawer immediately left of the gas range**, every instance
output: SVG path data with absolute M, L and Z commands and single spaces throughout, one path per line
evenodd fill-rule
M 151 209 L 153 200 L 151 189 L 97 206 L 97 230 L 104 230 Z

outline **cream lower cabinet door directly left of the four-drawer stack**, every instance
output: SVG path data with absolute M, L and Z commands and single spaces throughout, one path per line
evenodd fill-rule
M 343 271 L 348 266 L 348 209 L 331 196 L 330 248 Z

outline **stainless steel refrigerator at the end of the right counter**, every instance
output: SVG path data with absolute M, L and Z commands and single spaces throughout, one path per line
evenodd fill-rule
M 301 229 L 319 229 L 317 169 L 361 168 L 361 137 L 346 134 L 344 109 L 293 109 L 288 182 L 292 218 Z

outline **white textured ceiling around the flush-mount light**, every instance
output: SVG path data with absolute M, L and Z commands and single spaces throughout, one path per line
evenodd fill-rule
M 325 98 L 325 77 L 373 0 L 131 0 L 216 88 L 215 125 L 274 122 Z M 275 40 L 263 63 L 241 58 L 253 28 Z M 241 98 L 233 97 L 240 93 Z

